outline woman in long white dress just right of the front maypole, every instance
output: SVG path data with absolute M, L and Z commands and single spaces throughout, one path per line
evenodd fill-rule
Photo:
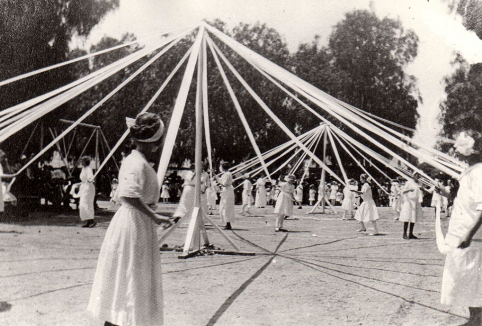
M 235 191 L 233 189 L 233 175 L 228 171 L 229 163 L 223 162 L 219 165 L 219 170 L 223 172 L 221 178 L 216 174 L 216 181 L 223 187 L 221 199 L 219 201 L 219 215 L 221 222 L 226 225 L 225 230 L 232 230 L 231 222 L 235 219 Z

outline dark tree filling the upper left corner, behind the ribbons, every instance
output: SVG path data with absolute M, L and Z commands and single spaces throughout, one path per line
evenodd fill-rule
M 72 36 L 87 35 L 118 4 L 119 0 L 2 0 L 0 80 L 65 61 Z M 2 86 L 0 109 L 58 88 L 72 78 L 64 67 Z M 10 153 L 16 152 L 18 147 L 10 145 L 9 141 L 3 144 Z

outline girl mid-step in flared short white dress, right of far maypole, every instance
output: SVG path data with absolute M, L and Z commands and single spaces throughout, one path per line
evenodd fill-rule
M 362 183 L 361 191 L 353 190 L 353 192 L 359 193 L 363 199 L 363 203 L 360 205 L 355 213 L 355 220 L 360 221 L 361 227 L 357 232 L 367 231 L 365 223 L 372 222 L 373 233 L 369 233 L 369 236 L 378 236 L 377 220 L 379 219 L 377 205 L 372 197 L 372 189 L 367 182 L 367 175 L 365 173 L 360 175 L 360 182 Z

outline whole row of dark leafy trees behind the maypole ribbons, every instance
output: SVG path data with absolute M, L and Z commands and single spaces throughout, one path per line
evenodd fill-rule
M 5 0 L 3 3 L 0 8 L 0 44 L 5 51 L 0 52 L 0 80 L 85 54 L 84 50 L 69 49 L 73 35 L 88 35 L 105 13 L 118 6 L 118 0 Z M 353 10 L 347 12 L 344 19 L 333 27 L 326 46 L 319 45 L 320 37 L 317 36 L 311 43 L 301 44 L 291 54 L 282 35 L 266 24 L 240 23 L 233 30 L 228 30 L 223 21 L 209 23 L 330 95 L 395 123 L 415 127 L 417 101 L 413 94 L 417 94 L 416 80 L 404 73 L 404 67 L 417 55 L 418 37 L 413 31 L 405 30 L 401 21 L 379 18 L 371 10 Z M 114 144 L 125 130 L 125 117 L 134 117 L 148 103 L 190 47 L 194 36 L 193 33 L 179 42 L 86 122 L 100 125 L 109 143 Z M 105 37 L 89 50 L 95 52 L 135 38 L 132 34 L 125 35 L 121 40 Z M 291 130 L 300 134 L 319 124 L 320 121 L 315 116 L 295 105 L 282 90 L 262 77 L 239 55 L 216 38 L 214 41 L 243 78 Z M 78 62 L 38 77 L 2 86 L 0 109 L 55 89 L 137 50 L 136 46 L 125 47 L 96 56 L 90 61 Z M 149 57 L 59 107 L 44 117 L 45 124 L 56 125 L 59 118 L 76 119 L 147 60 Z M 480 116 L 477 92 L 468 96 L 467 90 L 477 89 L 482 80 L 481 69 L 477 66 L 461 67 L 458 74 L 447 81 L 448 88 L 452 91 L 444 104 L 444 112 L 445 119 L 451 122 L 454 121 L 454 112 L 467 111 L 468 115 L 473 112 L 473 115 Z M 261 151 L 288 140 L 226 66 L 224 69 Z M 182 72 L 183 68 L 151 108 L 166 123 L 176 100 Z M 208 54 L 208 72 L 211 139 L 215 156 L 218 159 L 241 162 L 254 152 L 211 54 Z M 190 89 L 174 150 L 173 159 L 179 163 L 184 158 L 192 158 L 194 154 L 194 102 L 195 81 Z M 326 113 L 322 114 L 326 116 Z M 459 120 L 463 125 L 464 118 Z M 339 125 L 336 121 L 333 123 Z M 460 127 L 456 122 L 447 125 L 454 129 Z M 452 131 L 450 126 L 446 132 Z M 12 138 L 25 139 L 28 134 L 29 131 L 26 130 Z M 77 141 L 77 147 L 81 147 L 88 135 L 82 137 Z M 14 144 L 11 140 L 2 144 L 12 158 L 19 154 L 18 146 Z

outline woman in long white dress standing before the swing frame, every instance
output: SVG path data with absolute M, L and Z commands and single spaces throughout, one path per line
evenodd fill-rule
M 79 186 L 79 214 L 80 220 L 86 222 L 82 228 L 93 228 L 94 222 L 94 198 L 95 186 L 93 184 L 94 172 L 90 165 L 90 158 L 84 156 L 80 159 L 82 170 L 80 171 L 80 186 Z

